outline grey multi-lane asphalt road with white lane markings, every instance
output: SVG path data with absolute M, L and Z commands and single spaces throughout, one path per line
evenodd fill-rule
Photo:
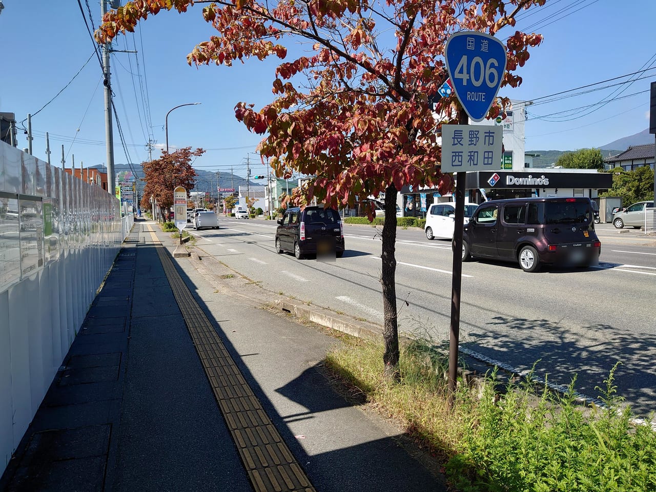
M 274 222 L 221 220 L 197 245 L 271 291 L 382 323 L 380 237 L 369 226 L 346 226 L 343 258 L 325 263 L 276 255 Z M 621 392 L 636 411 L 656 409 L 656 242 L 640 232 L 598 226 L 600 265 L 584 271 L 468 262 L 462 269 L 461 346 L 538 373 L 596 397 L 616 361 Z M 396 285 L 401 331 L 447 340 L 452 254 L 449 241 L 399 230 Z

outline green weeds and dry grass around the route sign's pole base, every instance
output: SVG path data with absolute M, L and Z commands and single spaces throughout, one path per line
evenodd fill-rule
M 402 350 L 396 382 L 382 375 L 382 351 L 346 339 L 326 366 L 428 447 L 459 491 L 656 490 L 656 433 L 632 424 L 615 368 L 598 388 L 603 407 L 577 403 L 574 381 L 564 395 L 525 380 L 499 392 L 492 373 L 480 384 L 459 381 L 449 411 L 445 356 L 413 342 Z

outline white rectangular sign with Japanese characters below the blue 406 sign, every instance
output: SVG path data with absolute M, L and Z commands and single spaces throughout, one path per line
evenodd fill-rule
M 442 173 L 499 169 L 502 127 L 442 125 Z

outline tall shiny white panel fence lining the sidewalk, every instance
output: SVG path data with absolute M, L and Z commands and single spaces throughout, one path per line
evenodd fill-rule
M 0 142 L 0 474 L 132 224 L 100 186 Z

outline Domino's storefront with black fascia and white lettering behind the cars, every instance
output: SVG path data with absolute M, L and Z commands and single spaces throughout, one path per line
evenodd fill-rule
M 546 171 L 546 172 L 543 172 Z M 613 175 L 589 169 L 531 169 L 531 171 L 476 171 L 467 173 L 465 200 L 526 197 L 588 197 L 595 199 L 600 190 L 613 186 Z M 401 190 L 403 216 L 426 216 L 432 203 L 455 201 L 454 195 L 442 196 L 437 189 Z

